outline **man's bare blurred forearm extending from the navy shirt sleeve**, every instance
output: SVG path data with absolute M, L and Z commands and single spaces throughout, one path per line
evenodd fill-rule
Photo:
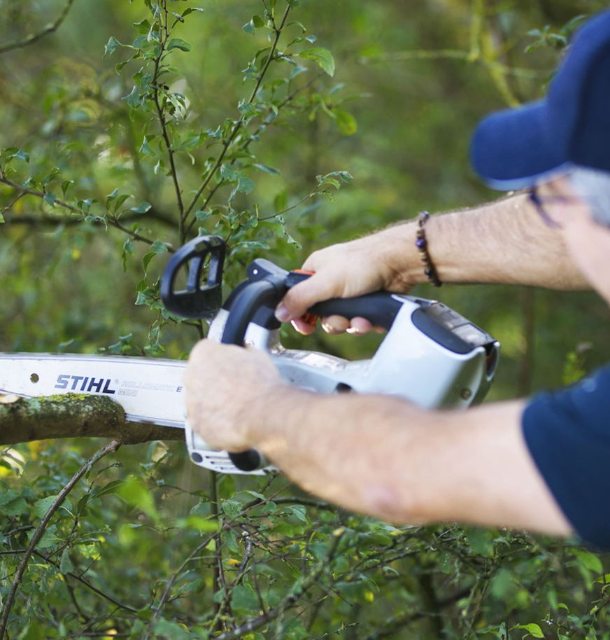
M 275 391 L 250 438 L 315 495 L 396 524 L 570 530 L 527 454 L 520 402 L 427 412 L 385 396 Z

